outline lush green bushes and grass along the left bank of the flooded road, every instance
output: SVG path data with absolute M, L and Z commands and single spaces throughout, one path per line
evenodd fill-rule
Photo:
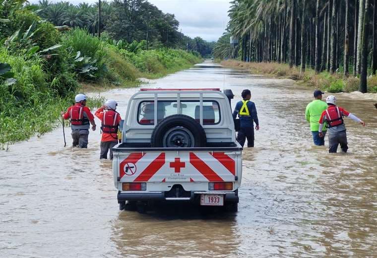
M 0 0 L 2 149 L 56 127 L 83 85 L 137 86 L 139 77 L 161 77 L 201 61 L 197 51 L 167 48 L 157 39 L 147 50 L 144 40 L 115 40 L 106 32 L 100 39 L 87 27 L 56 27 L 31 7 L 24 0 Z M 89 99 L 88 106 L 102 103 Z

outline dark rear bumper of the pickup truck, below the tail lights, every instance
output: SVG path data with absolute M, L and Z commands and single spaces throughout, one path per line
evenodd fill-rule
M 205 192 L 191 192 L 190 197 L 178 197 L 178 198 L 169 198 L 165 197 L 164 192 L 152 192 L 152 193 L 124 193 L 118 192 L 118 203 L 122 203 L 124 201 L 191 201 L 196 202 L 200 200 L 200 194 L 224 194 L 225 199 L 224 202 L 226 203 L 238 203 L 238 191 L 235 192 L 227 192 L 227 193 L 205 193 Z

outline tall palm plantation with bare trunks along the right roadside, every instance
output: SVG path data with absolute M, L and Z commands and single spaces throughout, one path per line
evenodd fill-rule
M 377 69 L 377 0 L 234 0 L 228 33 L 214 53 L 243 61 L 278 62 L 360 76 Z M 234 49 L 225 44 L 232 35 Z

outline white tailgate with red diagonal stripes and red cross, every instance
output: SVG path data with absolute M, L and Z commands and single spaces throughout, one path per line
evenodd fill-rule
M 118 182 L 234 182 L 242 169 L 240 151 L 115 152 L 113 162 Z

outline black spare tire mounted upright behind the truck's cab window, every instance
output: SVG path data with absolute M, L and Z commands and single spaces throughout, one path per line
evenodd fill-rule
M 202 126 L 186 115 L 172 115 L 164 118 L 153 129 L 151 147 L 187 148 L 205 147 L 207 137 Z

